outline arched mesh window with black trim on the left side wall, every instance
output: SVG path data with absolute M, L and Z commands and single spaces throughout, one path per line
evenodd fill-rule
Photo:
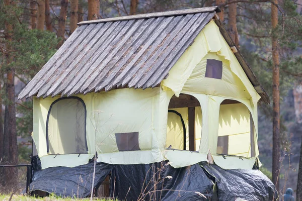
M 46 122 L 48 154 L 87 154 L 86 106 L 79 97 L 55 100 Z

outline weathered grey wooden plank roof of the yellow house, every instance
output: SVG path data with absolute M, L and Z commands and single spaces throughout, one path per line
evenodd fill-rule
M 216 12 L 207 7 L 81 22 L 18 98 L 158 86 Z

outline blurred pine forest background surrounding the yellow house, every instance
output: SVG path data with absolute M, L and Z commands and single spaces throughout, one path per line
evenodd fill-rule
M 30 162 L 32 98 L 17 96 L 78 22 L 208 6 L 271 97 L 258 111 L 261 171 L 281 192 L 302 187 L 302 0 L 0 0 L 0 163 Z M 20 172 L 0 177 L 18 186 Z

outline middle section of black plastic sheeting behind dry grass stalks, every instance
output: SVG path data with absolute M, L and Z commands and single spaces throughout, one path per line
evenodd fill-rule
M 209 200 L 213 195 L 213 182 L 198 164 L 112 165 L 110 185 L 111 196 L 121 200 Z

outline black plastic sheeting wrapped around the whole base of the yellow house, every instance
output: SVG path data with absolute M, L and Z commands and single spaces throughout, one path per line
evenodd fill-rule
M 36 166 L 38 163 L 36 163 Z M 32 194 L 55 193 L 64 197 L 91 194 L 94 163 L 73 168 L 35 169 Z M 200 163 L 173 168 L 168 161 L 153 164 L 96 164 L 94 193 L 110 174 L 111 196 L 120 200 L 245 200 L 269 201 L 278 197 L 272 182 L 259 170 L 223 170 Z M 131 178 L 131 179 L 129 179 Z M 45 195 L 45 193 L 44 193 Z M 95 194 L 97 196 L 97 194 Z

